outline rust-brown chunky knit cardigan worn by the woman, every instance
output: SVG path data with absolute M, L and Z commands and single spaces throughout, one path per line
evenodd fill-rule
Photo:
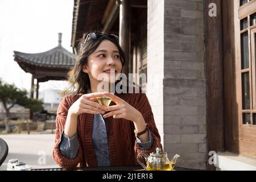
M 80 142 L 80 148 L 76 158 L 69 159 L 61 154 L 58 144 L 61 134 L 64 131 L 65 121 L 68 114 L 68 109 L 82 94 L 69 94 L 64 97 L 57 109 L 56 117 L 56 135 L 55 146 L 53 148 L 53 159 L 63 168 L 73 167 L 96 167 L 96 155 L 92 141 L 92 125 L 93 114 L 80 114 L 77 121 L 77 135 Z M 140 111 L 146 121 L 152 137 L 153 144 L 150 150 L 139 150 L 137 147 L 136 138 L 134 135 L 134 124 L 126 119 L 114 119 L 113 117 L 106 118 L 109 123 L 108 139 L 109 139 L 109 155 L 112 166 L 135 166 L 137 163 L 137 154 L 146 152 L 150 154 L 154 152 L 156 147 L 162 148 L 160 144 L 160 135 L 155 126 L 154 116 L 147 96 L 144 93 L 133 94 L 115 94 L 128 102 L 135 109 Z M 113 102 L 110 105 L 115 105 Z

